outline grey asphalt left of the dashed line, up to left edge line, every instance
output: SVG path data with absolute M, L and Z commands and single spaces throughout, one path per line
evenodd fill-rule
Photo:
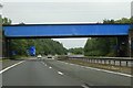
M 82 82 L 62 75 L 40 61 L 24 63 L 2 74 L 3 86 L 81 86 Z

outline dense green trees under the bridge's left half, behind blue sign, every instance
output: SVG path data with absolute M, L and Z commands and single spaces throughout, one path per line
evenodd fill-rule
M 64 55 L 66 50 L 63 45 L 51 38 L 22 38 L 11 40 L 10 47 L 12 51 L 17 51 L 18 55 L 28 55 L 30 46 L 35 46 L 35 54 L 41 55 Z

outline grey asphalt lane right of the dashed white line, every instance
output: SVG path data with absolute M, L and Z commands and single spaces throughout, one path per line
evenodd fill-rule
M 54 59 L 44 59 L 48 65 L 62 70 L 68 76 L 75 77 L 90 86 L 131 86 L 132 77 L 123 74 L 104 72 L 80 65 L 68 64 Z

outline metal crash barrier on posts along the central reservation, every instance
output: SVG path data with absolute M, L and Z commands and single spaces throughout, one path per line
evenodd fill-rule
M 133 58 L 131 57 L 69 57 L 69 59 L 80 59 L 94 64 L 133 67 Z

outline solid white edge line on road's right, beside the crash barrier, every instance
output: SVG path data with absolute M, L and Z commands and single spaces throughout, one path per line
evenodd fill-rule
M 61 61 L 60 61 L 60 62 L 61 62 Z M 61 62 L 61 63 L 64 63 L 64 62 Z M 64 64 L 65 64 L 65 63 L 64 63 Z M 69 63 L 68 63 L 68 64 L 69 64 Z M 110 74 L 115 74 L 115 75 L 122 75 L 122 76 L 126 76 L 126 77 L 133 77 L 133 75 L 123 74 L 123 73 L 116 73 L 116 72 L 105 70 L 105 69 L 86 67 L 86 66 L 81 66 L 81 65 L 75 65 L 75 64 L 69 64 L 69 65 L 80 66 L 80 67 L 84 67 L 84 68 L 89 68 L 89 69 L 93 69 L 93 70 L 101 70 L 101 72 L 104 72 L 104 73 L 110 73 Z

